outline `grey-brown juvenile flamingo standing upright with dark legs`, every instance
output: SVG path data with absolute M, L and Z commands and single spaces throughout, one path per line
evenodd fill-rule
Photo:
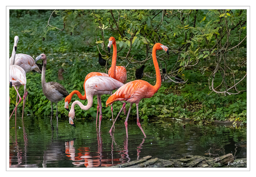
M 43 68 L 42 68 L 42 88 L 43 93 L 48 100 L 51 102 L 52 107 L 52 115 L 53 115 L 53 102 L 56 102 L 56 118 L 58 120 L 58 102 L 63 100 L 66 96 L 68 96 L 68 91 L 63 87 L 63 85 L 59 84 L 58 82 L 46 82 L 45 81 L 45 70 L 46 70 L 46 55 L 41 54 L 36 57 L 36 62 L 38 60 L 43 60 Z M 52 119 L 52 116 L 51 116 Z

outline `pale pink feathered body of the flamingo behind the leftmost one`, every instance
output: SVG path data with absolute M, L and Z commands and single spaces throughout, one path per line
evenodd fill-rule
M 27 54 L 22 54 L 22 53 L 16 54 L 15 65 L 21 66 L 26 73 L 32 70 L 36 70 L 37 72 L 40 72 L 40 69 L 36 65 L 33 57 Z

